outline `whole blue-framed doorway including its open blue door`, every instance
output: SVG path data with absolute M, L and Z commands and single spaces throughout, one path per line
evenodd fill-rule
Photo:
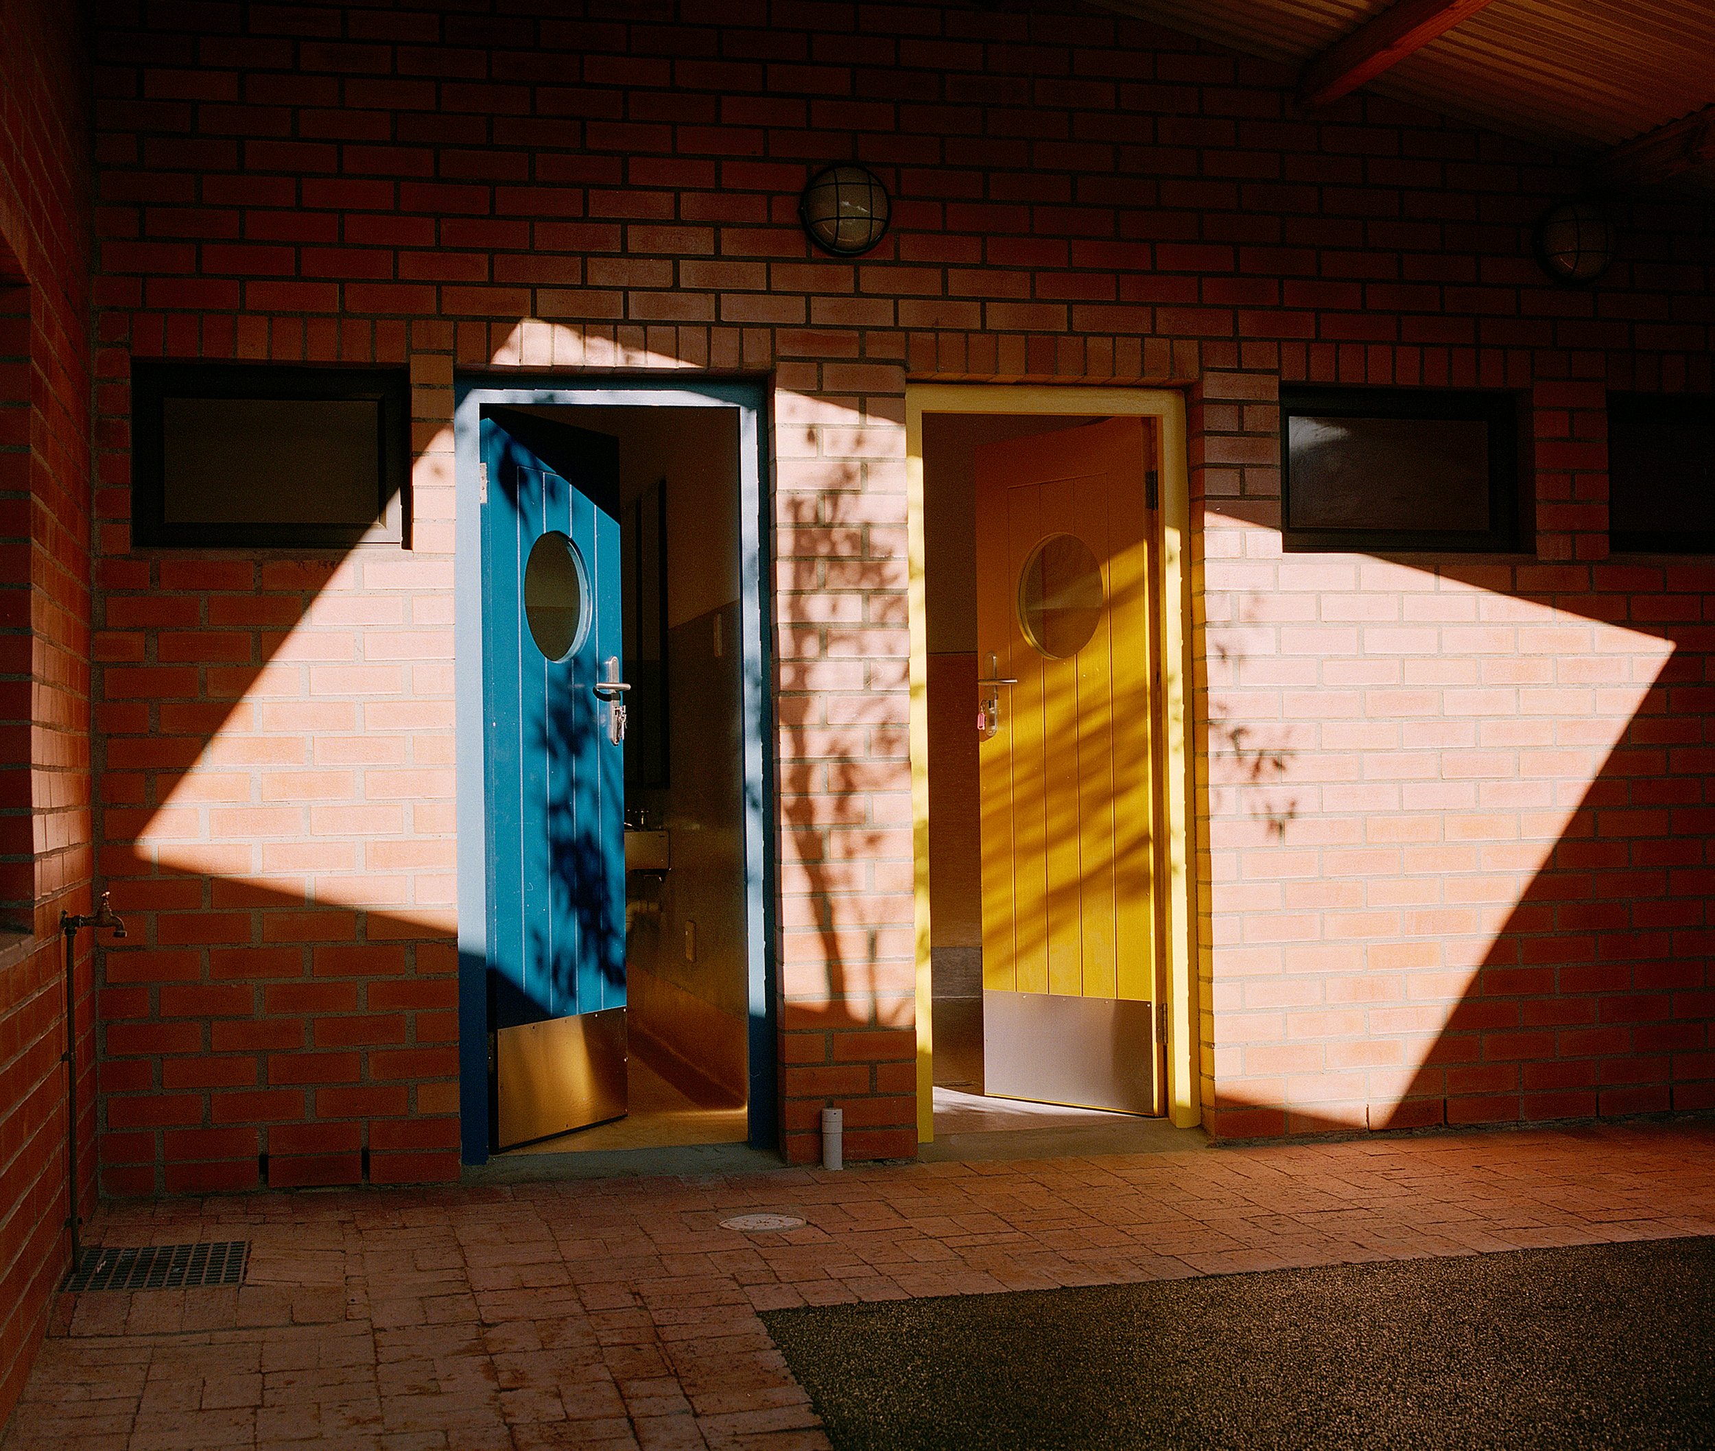
M 463 400 L 485 931 L 461 1012 L 487 1045 L 466 1161 L 773 1139 L 756 412 L 638 393 Z

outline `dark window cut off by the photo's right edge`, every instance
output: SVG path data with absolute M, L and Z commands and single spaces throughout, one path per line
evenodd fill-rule
M 1715 398 L 1609 394 L 1609 545 L 1715 554 Z

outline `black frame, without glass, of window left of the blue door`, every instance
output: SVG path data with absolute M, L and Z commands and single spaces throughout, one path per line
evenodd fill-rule
M 376 401 L 376 520 L 355 523 L 168 523 L 168 398 Z M 158 549 L 350 549 L 365 539 L 406 545 L 410 533 L 410 374 L 389 367 L 134 358 L 130 370 L 130 542 Z

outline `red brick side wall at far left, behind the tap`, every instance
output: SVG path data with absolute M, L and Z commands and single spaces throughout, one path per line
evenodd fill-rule
M 69 1252 L 62 909 L 89 907 L 89 139 L 72 9 L 0 10 L 0 1420 Z M 79 1180 L 94 1182 L 87 935 Z

